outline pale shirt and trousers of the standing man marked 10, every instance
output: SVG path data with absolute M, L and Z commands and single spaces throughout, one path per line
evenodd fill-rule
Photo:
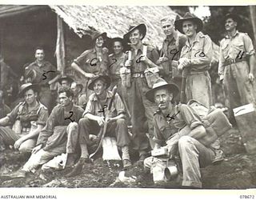
M 212 105 L 210 62 L 212 59 L 212 41 L 208 35 L 198 32 L 194 42 L 182 48 L 181 58 L 188 58 L 190 65 L 186 66 L 186 100 L 195 99 L 208 108 Z

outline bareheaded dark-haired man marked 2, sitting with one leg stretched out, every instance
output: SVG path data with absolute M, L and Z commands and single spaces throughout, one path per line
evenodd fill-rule
M 39 165 L 62 153 L 66 154 L 66 165 L 73 164 L 78 142 L 78 121 L 84 110 L 72 103 L 73 93 L 68 87 L 58 90 L 58 98 L 60 104 L 54 107 L 47 119 L 46 126 L 38 136 L 37 146 L 22 170 L 13 174 L 2 174 L 2 177 L 26 177 L 26 172 L 34 172 Z

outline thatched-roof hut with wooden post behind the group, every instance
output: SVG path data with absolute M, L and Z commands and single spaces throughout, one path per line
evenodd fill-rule
M 82 35 L 97 30 L 111 38 L 122 37 L 130 24 L 146 23 L 145 42 L 160 48 L 164 38 L 160 19 L 166 15 L 175 18 L 177 14 L 169 6 L 4 5 L 0 6 L 0 52 L 4 62 L 21 76 L 22 66 L 34 60 L 34 47 L 43 46 L 46 59 L 58 70 L 74 74 L 70 62 L 90 47 Z M 6 73 L 7 68 L 1 67 L 1 73 Z

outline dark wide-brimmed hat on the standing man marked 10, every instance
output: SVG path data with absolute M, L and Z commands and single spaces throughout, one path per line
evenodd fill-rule
M 197 33 L 200 30 L 202 30 L 202 20 L 200 18 L 197 18 L 196 16 L 194 16 L 194 14 L 190 14 L 189 12 L 187 12 L 183 18 L 178 19 L 174 22 L 175 29 L 178 30 L 179 32 L 181 32 L 182 34 L 184 34 L 184 32 L 182 30 L 182 25 L 183 25 L 183 22 L 185 22 L 186 20 L 190 20 L 198 26 Z

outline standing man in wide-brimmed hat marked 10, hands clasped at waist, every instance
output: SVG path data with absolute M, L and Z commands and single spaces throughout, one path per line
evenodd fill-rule
M 202 30 L 202 20 L 190 13 L 174 24 L 188 38 L 178 61 L 178 70 L 185 70 L 183 73 L 186 74 L 186 100 L 197 100 L 209 108 L 212 104 L 208 72 L 213 54 L 212 41 L 208 35 L 199 32 Z

